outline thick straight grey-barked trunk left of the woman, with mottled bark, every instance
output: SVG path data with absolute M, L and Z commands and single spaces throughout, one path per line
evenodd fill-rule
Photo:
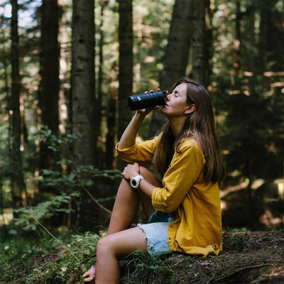
M 76 165 L 95 164 L 94 1 L 73 0 L 72 133 Z

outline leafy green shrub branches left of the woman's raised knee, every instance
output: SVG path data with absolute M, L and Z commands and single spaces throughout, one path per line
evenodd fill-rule
M 94 178 L 107 177 L 114 179 L 121 177 L 118 170 L 97 170 L 92 166 L 82 166 L 70 174 L 61 173 L 52 170 L 43 170 L 38 180 L 44 182 L 46 186 L 57 187 L 61 195 L 53 195 L 50 200 L 38 203 L 34 207 L 25 209 L 15 209 L 16 213 L 21 216 L 13 219 L 13 229 L 9 234 L 18 234 L 21 230 L 38 231 L 40 222 L 50 219 L 50 217 L 60 214 L 70 214 L 74 212 L 72 207 L 69 207 L 70 198 L 80 199 L 85 188 L 94 185 Z M 98 201 L 106 201 L 107 198 L 102 198 Z

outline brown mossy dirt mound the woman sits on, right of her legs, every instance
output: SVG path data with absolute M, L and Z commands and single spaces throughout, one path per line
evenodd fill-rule
M 129 271 L 121 283 L 284 284 L 284 232 L 224 232 L 219 256 L 171 254 L 158 265 L 134 265 Z

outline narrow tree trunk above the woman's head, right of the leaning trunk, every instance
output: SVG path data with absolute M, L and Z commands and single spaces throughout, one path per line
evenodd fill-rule
M 210 82 L 212 27 L 209 0 L 193 0 L 192 78 L 204 86 Z

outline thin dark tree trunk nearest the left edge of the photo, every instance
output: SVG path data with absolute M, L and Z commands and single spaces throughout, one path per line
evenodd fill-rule
M 18 50 L 18 1 L 11 0 L 11 188 L 13 209 L 23 204 L 22 194 L 25 190 L 22 172 L 21 155 L 21 116 L 20 116 L 20 94 L 21 77 L 19 72 L 19 50 Z M 15 214 L 14 214 L 15 215 Z

